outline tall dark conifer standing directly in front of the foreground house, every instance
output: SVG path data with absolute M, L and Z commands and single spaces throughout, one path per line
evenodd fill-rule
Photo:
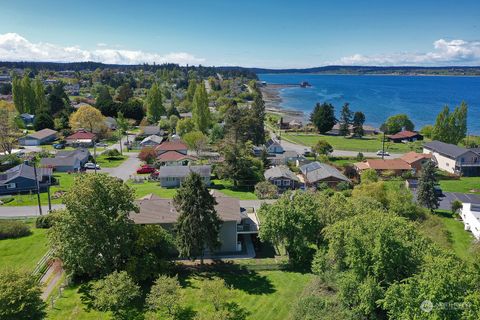
M 210 194 L 200 175 L 191 173 L 173 198 L 179 212 L 175 231 L 181 256 L 200 257 L 203 263 L 205 249 L 220 246 L 218 235 L 222 220 L 217 215 L 217 202 Z

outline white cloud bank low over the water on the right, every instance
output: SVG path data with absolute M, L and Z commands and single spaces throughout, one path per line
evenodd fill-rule
M 426 53 L 400 52 L 380 55 L 354 54 L 331 64 L 376 65 L 376 66 L 434 66 L 434 65 L 479 65 L 480 41 L 445 39 L 433 43 L 434 50 Z

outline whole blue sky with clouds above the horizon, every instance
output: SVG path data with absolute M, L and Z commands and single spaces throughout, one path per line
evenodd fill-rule
M 479 65 L 480 1 L 2 1 L 0 60 Z

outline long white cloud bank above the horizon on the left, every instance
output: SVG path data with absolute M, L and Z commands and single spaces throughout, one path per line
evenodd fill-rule
M 186 52 L 165 55 L 140 50 L 107 48 L 98 43 L 97 49 L 85 50 L 78 46 L 62 47 L 51 43 L 33 43 L 17 33 L 0 34 L 0 61 L 80 62 L 96 61 L 110 64 L 178 63 L 200 64 L 205 59 Z

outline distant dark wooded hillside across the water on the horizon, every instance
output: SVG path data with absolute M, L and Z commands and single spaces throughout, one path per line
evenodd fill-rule
M 220 67 L 228 69 L 230 67 Z M 232 67 L 238 68 L 238 67 Z M 384 75 L 462 75 L 480 76 L 479 67 L 368 67 L 368 66 L 325 66 L 305 69 L 248 68 L 259 73 L 312 73 L 312 74 L 384 74 Z

